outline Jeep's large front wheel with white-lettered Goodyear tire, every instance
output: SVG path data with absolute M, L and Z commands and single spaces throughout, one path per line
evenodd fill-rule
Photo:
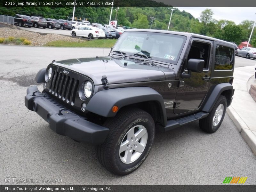
M 96 147 L 96 154 L 100 164 L 109 172 L 116 175 L 127 175 L 135 171 L 145 161 L 152 147 L 155 138 L 155 123 L 153 118 L 146 111 L 141 109 L 123 108 L 115 117 L 107 119 L 103 126 L 108 127 L 109 132 L 104 143 Z M 137 135 L 137 137 L 135 135 L 137 133 L 136 130 L 139 131 L 139 126 L 143 128 L 140 129 L 141 134 L 140 136 Z M 134 140 L 132 140 L 131 137 L 130 141 L 129 136 L 126 135 L 129 132 L 133 132 Z M 145 137 L 147 137 L 147 140 Z M 126 143 L 128 141 L 131 142 L 131 144 Z M 141 150 L 142 152 L 137 152 L 135 150 L 136 147 L 143 146 L 141 142 L 144 142 L 145 147 Z M 120 153 L 120 151 L 122 151 L 120 149 L 122 143 L 125 146 L 125 150 Z M 138 143 L 138 146 L 136 143 Z M 130 163 L 124 163 L 125 153 L 127 153 L 127 156 L 128 153 L 131 155 L 130 160 L 132 160 L 132 156 L 134 157 L 134 155 L 135 158 Z

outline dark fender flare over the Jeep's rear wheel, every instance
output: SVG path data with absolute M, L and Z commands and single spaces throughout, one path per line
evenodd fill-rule
M 225 91 L 228 91 L 228 92 L 225 92 Z M 218 98 L 223 92 L 225 92 L 224 96 L 227 98 L 227 101 L 228 101 L 227 107 L 228 107 L 229 104 L 231 103 L 230 100 L 232 100 L 234 89 L 230 83 L 220 83 L 220 84 L 217 84 L 210 92 L 210 96 L 207 98 L 205 104 L 203 105 L 204 107 L 202 111 L 205 111 L 205 112 L 212 111 L 214 104 L 216 103 L 216 101 L 218 100 Z

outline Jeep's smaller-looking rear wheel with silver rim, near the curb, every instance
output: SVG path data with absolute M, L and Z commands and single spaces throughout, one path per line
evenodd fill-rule
M 217 110 L 218 108 L 220 110 Z M 216 101 L 209 115 L 199 120 L 199 127 L 204 132 L 208 132 L 208 133 L 216 132 L 219 129 L 224 119 L 224 116 L 226 114 L 226 109 L 227 109 L 227 99 L 223 95 L 220 95 L 219 99 Z M 220 113 L 222 113 L 221 117 L 220 117 Z

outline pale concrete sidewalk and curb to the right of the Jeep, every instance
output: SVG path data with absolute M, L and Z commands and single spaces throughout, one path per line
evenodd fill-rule
M 235 68 L 233 87 L 235 94 L 227 113 L 236 125 L 241 136 L 256 155 L 255 109 L 256 103 L 249 93 L 250 79 L 254 76 L 254 66 Z

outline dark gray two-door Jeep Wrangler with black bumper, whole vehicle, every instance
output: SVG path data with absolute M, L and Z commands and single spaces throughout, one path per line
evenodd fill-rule
M 126 30 L 108 57 L 52 61 L 25 105 L 58 134 L 96 145 L 100 163 L 125 175 L 146 159 L 155 129 L 199 120 L 213 133 L 232 101 L 235 45 L 207 36 Z

